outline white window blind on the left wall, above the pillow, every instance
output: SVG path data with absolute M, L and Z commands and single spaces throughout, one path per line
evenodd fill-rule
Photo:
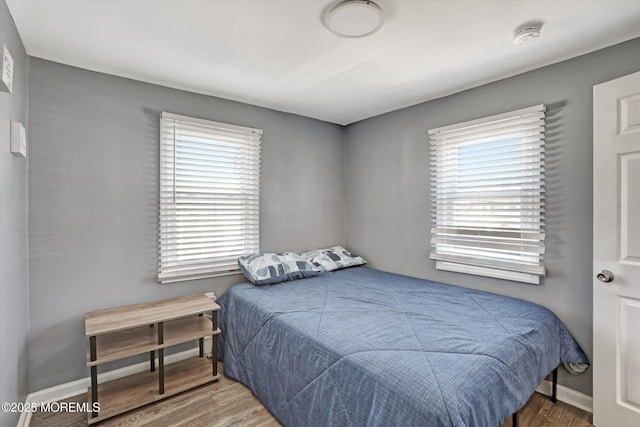
M 258 252 L 261 137 L 162 113 L 159 282 L 233 274 Z

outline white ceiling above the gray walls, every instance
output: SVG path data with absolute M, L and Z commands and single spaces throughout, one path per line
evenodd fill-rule
M 640 36 L 638 0 L 379 0 L 364 39 L 322 25 L 336 3 L 7 0 L 32 56 L 343 125 Z

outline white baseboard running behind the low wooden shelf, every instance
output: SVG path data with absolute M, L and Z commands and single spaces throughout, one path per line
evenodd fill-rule
M 189 357 L 197 356 L 198 349 L 193 348 L 180 353 L 171 354 L 164 358 L 166 364 L 178 362 L 180 360 L 188 359 Z M 157 359 L 156 359 L 157 365 Z M 118 378 L 126 377 L 131 374 L 137 374 L 149 369 L 149 362 L 141 362 L 131 366 L 125 366 L 124 368 L 115 369 L 113 371 L 103 372 L 98 374 L 98 384 L 107 381 L 115 380 Z M 47 388 L 44 390 L 36 391 L 28 394 L 25 403 L 28 404 L 42 404 L 56 402 L 58 400 L 66 399 L 68 397 L 77 396 L 87 392 L 87 388 L 91 385 L 91 379 L 89 377 L 81 380 L 71 381 L 69 383 L 60 384 L 55 387 Z M 31 421 L 31 412 L 22 412 L 20 419 L 18 419 L 17 427 L 28 427 Z

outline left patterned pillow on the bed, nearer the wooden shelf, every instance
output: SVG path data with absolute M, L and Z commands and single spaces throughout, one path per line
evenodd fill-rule
M 238 265 L 254 285 L 273 285 L 320 273 L 319 268 L 293 252 L 245 255 L 238 258 Z

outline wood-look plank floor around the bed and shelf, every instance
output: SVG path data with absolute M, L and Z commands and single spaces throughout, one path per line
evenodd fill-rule
M 220 365 L 222 372 L 222 365 Z M 85 394 L 66 399 L 82 402 Z M 36 412 L 31 427 L 86 426 L 84 413 Z M 244 385 L 227 377 L 97 424 L 115 426 L 280 426 Z M 520 410 L 520 427 L 588 427 L 591 414 L 538 393 Z M 509 419 L 504 426 L 511 427 Z

